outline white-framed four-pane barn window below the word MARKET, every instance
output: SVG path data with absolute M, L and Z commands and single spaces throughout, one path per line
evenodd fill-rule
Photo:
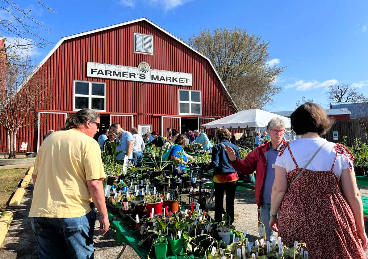
M 202 115 L 201 91 L 179 89 L 179 114 Z

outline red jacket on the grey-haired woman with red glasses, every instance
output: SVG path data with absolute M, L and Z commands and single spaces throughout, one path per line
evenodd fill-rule
M 285 143 L 286 141 L 282 140 L 282 142 Z M 255 200 L 258 208 L 262 205 L 262 190 L 267 170 L 265 153 L 268 151 L 270 143 L 271 141 L 268 141 L 266 144 L 259 145 L 255 150 L 249 153 L 244 160 L 237 158 L 234 162 L 231 162 L 234 169 L 241 174 L 249 175 L 252 174 L 252 172 L 257 171 L 254 188 Z

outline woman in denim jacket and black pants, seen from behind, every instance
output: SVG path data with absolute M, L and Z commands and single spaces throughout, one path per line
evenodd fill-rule
M 224 203 L 224 191 L 226 190 L 226 212 L 230 217 L 230 224 L 234 222 L 234 199 L 238 183 L 238 173 L 231 166 L 225 147 L 233 148 L 236 157 L 240 158 L 238 148 L 229 142 L 231 133 L 226 128 L 216 130 L 216 139 L 219 144 L 212 147 L 212 162 L 210 168 L 214 168 L 213 184 L 215 186 L 215 221 L 222 220 Z

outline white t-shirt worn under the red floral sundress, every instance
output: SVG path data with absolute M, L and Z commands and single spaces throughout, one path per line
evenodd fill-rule
M 290 142 L 289 146 L 291 153 L 293 153 L 299 168 L 305 167 L 312 155 L 314 155 L 324 142 L 328 141 L 321 137 L 297 139 Z M 312 171 L 330 171 L 336 155 L 334 147 L 335 143 L 333 142 L 325 144 L 306 169 Z M 349 168 L 349 162 L 351 162 L 350 159 L 347 160 L 344 154 L 337 154 L 335 167 L 333 168 L 333 172 L 337 177 L 340 178 L 342 171 Z M 286 172 L 290 172 L 296 168 L 293 158 L 291 158 L 287 148 L 280 157 L 276 158 L 275 164 L 285 168 Z

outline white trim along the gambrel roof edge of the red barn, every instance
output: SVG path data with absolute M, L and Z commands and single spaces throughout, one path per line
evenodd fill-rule
M 153 27 L 156 27 L 157 29 L 159 29 L 160 31 L 162 31 L 163 33 L 171 36 L 171 38 L 175 39 L 176 41 L 180 42 L 181 44 L 183 44 L 184 46 L 186 46 L 187 48 L 189 48 L 190 50 L 194 51 L 195 53 L 197 53 L 199 56 L 203 57 L 204 59 L 208 60 L 209 64 L 211 65 L 213 71 L 215 71 L 215 74 L 216 76 L 219 78 L 220 80 L 220 83 L 222 84 L 225 92 L 229 95 L 230 97 L 230 100 L 233 102 L 234 104 L 234 107 L 236 108 L 237 111 L 239 111 L 238 107 L 236 106 L 233 98 L 231 98 L 231 95 L 229 93 L 229 91 L 227 90 L 224 82 L 222 81 L 219 73 L 217 72 L 215 66 L 213 66 L 211 60 L 206 57 L 205 55 L 203 55 L 201 52 L 198 52 L 198 50 L 192 48 L 191 46 L 189 46 L 187 43 L 185 43 L 184 41 L 182 41 L 181 39 L 177 38 L 175 35 L 171 34 L 170 32 L 166 31 L 165 29 L 161 28 L 160 26 L 158 26 L 157 24 L 155 24 L 154 22 L 148 20 L 146 17 L 142 17 L 142 18 L 139 18 L 139 19 L 135 19 L 135 20 L 131 20 L 131 21 L 127 21 L 127 22 L 122 22 L 122 23 L 119 23 L 119 24 L 114 24 L 114 25 L 110 25 L 110 26 L 107 26 L 107 27 L 102 27 L 102 28 L 98 28 L 98 29 L 94 29 L 94 30 L 91 30 L 91 31 L 86 31 L 86 32 L 81 32 L 81 33 L 78 33 L 78 34 L 73 34 L 73 35 L 70 35 L 70 36 L 66 36 L 66 37 L 63 37 L 60 39 L 60 41 L 54 46 L 54 48 L 52 50 L 50 50 L 50 52 L 46 55 L 46 57 L 44 57 L 41 62 L 35 67 L 35 69 L 33 69 L 32 73 L 29 74 L 29 76 L 26 78 L 25 81 L 23 81 L 20 85 L 20 88 L 23 87 L 23 85 L 25 85 L 29 79 L 31 79 L 31 77 L 33 76 L 33 74 L 36 73 L 36 71 L 47 61 L 47 59 L 49 59 L 49 57 L 57 50 L 57 48 L 59 48 L 59 46 L 66 40 L 68 39 L 74 39 L 74 38 L 77 38 L 77 37 L 81 37 L 81 36 L 85 36 L 85 35 L 88 35 L 88 34 L 93 34 L 93 33 L 96 33 L 96 32 L 100 32 L 100 31 L 107 31 L 109 29 L 113 29 L 113 28 L 117 28 L 117 27 L 121 27 L 121 26 L 125 26 L 125 25 L 129 25 L 129 24 L 133 24 L 135 22 L 140 22 L 140 21 L 146 21 L 148 22 L 149 24 L 151 24 Z M 20 89 L 19 88 L 19 89 Z

